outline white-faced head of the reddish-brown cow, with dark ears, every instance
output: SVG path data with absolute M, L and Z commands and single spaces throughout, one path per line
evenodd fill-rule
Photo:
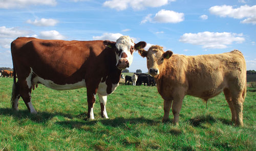
M 135 44 L 133 39 L 129 36 L 121 36 L 116 42 L 105 40 L 104 43 L 110 48 L 115 48 L 116 66 L 120 70 L 123 70 L 132 64 L 134 51 L 146 46 L 146 42 L 144 41 Z

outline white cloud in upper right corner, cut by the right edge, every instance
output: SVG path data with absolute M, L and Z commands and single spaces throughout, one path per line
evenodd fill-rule
M 245 18 L 241 23 L 256 24 L 256 5 L 254 6 L 240 6 L 240 8 L 233 8 L 232 6 L 214 6 L 209 8 L 211 14 L 221 17 L 231 17 L 236 19 Z

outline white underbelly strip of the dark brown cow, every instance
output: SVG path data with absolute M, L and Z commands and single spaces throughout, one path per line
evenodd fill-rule
M 36 83 L 41 83 L 41 84 L 45 85 L 46 87 L 52 88 L 55 90 L 71 90 L 71 89 L 79 89 L 82 87 L 86 87 L 86 81 L 84 79 L 82 81 L 79 81 L 79 82 L 73 83 L 73 84 L 59 85 L 59 84 L 55 84 L 51 80 L 45 80 L 40 77 L 35 77 L 33 79 L 33 84 L 36 84 Z

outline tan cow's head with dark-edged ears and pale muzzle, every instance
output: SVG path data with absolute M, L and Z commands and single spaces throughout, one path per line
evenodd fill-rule
M 139 49 L 139 54 L 143 58 L 146 57 L 148 73 L 150 73 L 153 77 L 156 77 L 159 75 L 162 69 L 163 62 L 166 59 L 169 59 L 173 55 L 173 52 L 164 52 L 163 47 L 153 45 L 148 49 L 148 51 Z

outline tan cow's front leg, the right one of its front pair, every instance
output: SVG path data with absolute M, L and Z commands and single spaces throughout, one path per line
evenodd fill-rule
M 177 94 L 173 100 L 172 112 L 174 115 L 173 123 L 175 124 L 178 124 L 179 122 L 179 115 L 180 115 L 183 98 L 184 98 L 184 94 L 182 96 Z

